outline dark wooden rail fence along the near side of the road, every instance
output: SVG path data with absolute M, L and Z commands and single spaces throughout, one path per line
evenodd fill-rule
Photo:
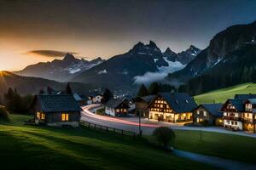
M 85 121 L 80 121 L 80 125 L 83 127 L 94 128 L 94 129 L 102 130 L 102 131 L 106 131 L 106 132 L 118 133 L 121 136 L 131 136 L 134 138 L 136 137 L 136 133 L 131 132 L 131 131 L 122 130 L 119 128 L 102 126 L 102 125 L 98 125 L 98 124 L 91 123 L 91 122 L 85 122 Z

